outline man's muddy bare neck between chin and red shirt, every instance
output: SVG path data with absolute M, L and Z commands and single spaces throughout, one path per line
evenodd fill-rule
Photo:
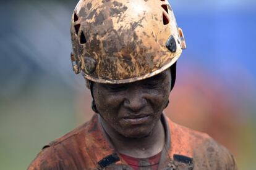
M 109 126 L 100 116 L 100 121 L 108 135 L 111 143 L 117 152 L 134 158 L 148 158 L 154 156 L 163 150 L 164 147 L 164 128 L 161 120 L 153 127 L 147 137 L 139 139 L 124 137 Z

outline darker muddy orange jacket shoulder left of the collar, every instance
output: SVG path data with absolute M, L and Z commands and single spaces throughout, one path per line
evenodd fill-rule
M 28 170 L 36 169 L 74 169 L 80 160 L 81 145 L 84 144 L 87 124 L 77 127 L 59 139 L 45 145 L 40 153 L 32 161 Z M 84 154 L 83 154 L 84 155 Z

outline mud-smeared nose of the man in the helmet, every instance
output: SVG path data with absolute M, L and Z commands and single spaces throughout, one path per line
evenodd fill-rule
M 139 89 L 127 92 L 126 99 L 124 100 L 124 107 L 138 112 L 147 105 L 147 100 L 143 97 L 143 93 Z

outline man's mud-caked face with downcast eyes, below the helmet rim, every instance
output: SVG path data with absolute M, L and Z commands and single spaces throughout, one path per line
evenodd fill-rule
M 168 70 L 127 84 L 93 84 L 96 108 L 112 131 L 124 137 L 148 136 L 168 102 L 171 73 Z

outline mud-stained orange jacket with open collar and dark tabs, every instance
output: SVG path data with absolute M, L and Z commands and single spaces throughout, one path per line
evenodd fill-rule
M 158 169 L 237 169 L 233 155 L 207 134 L 175 124 L 164 115 L 161 121 L 166 141 Z M 87 123 L 43 147 L 28 169 L 132 169 L 101 128 L 98 115 L 94 115 Z M 142 165 L 147 163 L 145 159 Z

